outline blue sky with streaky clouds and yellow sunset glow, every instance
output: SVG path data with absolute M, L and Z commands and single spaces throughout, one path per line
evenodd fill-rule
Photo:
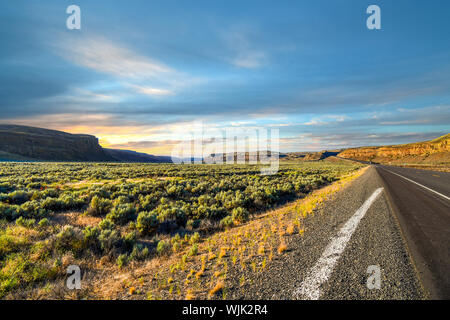
M 278 129 L 282 152 L 428 140 L 450 131 L 449 17 L 446 0 L 2 1 L 0 122 L 159 155 L 199 122 Z

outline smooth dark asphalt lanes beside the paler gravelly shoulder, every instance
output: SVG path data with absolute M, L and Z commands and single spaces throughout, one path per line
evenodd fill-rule
M 423 285 L 431 298 L 450 299 L 450 173 L 381 165 L 376 170 Z

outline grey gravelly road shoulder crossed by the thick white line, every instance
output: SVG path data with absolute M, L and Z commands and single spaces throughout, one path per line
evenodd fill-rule
M 306 232 L 291 236 L 286 254 L 244 290 L 231 290 L 230 298 L 427 298 L 374 166 L 307 217 L 304 225 Z M 367 286 L 371 266 L 381 271 L 379 289 Z

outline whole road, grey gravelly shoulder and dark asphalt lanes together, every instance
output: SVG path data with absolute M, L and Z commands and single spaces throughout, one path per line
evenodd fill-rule
M 449 188 L 449 173 L 370 166 L 229 298 L 449 299 Z

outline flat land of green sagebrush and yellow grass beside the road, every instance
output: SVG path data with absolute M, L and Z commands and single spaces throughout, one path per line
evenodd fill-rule
M 0 298 L 225 298 L 301 236 L 314 190 L 361 167 L 1 163 Z

